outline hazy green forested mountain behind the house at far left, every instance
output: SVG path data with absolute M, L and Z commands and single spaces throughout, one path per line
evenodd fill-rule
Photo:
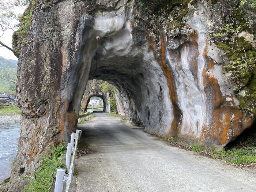
M 17 61 L 5 59 L 0 56 L 0 93 L 15 95 L 16 86 L 8 81 L 1 79 L 1 74 L 14 74 L 17 72 Z

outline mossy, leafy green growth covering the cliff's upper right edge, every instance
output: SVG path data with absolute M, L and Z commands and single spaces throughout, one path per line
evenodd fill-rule
M 254 21 L 245 14 L 245 9 L 255 10 L 255 0 L 238 1 L 233 10 L 235 22 L 216 26 L 210 36 L 230 63 L 223 66 L 230 72 L 240 108 L 256 115 L 256 48 L 252 26 Z M 254 82 L 254 83 L 253 83 Z

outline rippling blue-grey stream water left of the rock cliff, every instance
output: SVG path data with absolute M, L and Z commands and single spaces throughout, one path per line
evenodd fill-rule
M 11 163 L 17 153 L 19 135 L 19 123 L 0 125 L 0 183 L 10 177 Z

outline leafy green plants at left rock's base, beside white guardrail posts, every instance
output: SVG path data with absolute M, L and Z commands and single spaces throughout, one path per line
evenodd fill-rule
M 64 157 L 67 146 L 62 142 L 57 147 L 50 147 L 52 155 L 41 155 L 40 167 L 34 172 L 34 177 L 28 178 L 30 185 L 23 192 L 49 192 L 58 168 L 65 168 Z

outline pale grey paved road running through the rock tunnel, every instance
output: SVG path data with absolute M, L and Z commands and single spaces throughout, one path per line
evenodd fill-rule
M 118 117 L 80 124 L 94 153 L 78 159 L 77 192 L 256 191 L 256 171 L 169 146 Z

